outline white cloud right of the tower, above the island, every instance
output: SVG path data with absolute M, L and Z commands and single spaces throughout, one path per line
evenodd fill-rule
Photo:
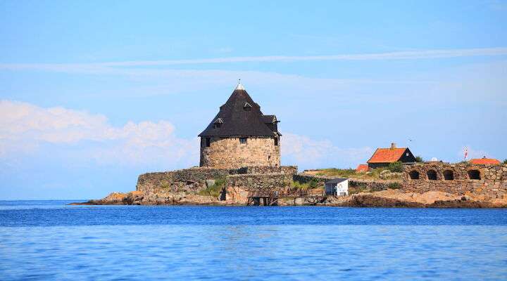
M 282 164 L 297 164 L 302 169 L 355 168 L 373 153 L 372 148 L 338 148 L 329 140 L 314 140 L 293 133 L 283 134 L 281 148 Z

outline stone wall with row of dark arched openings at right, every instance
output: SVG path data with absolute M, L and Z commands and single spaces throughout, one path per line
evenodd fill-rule
M 478 171 L 480 179 L 471 179 L 469 171 Z M 419 178 L 413 178 L 415 173 Z M 486 200 L 507 195 L 507 165 L 477 165 L 469 163 L 424 163 L 405 166 L 402 190 L 423 193 L 442 191 L 471 195 Z M 444 175 L 447 175 L 447 179 Z M 452 178 L 449 176 L 452 175 Z M 436 179 L 432 179 L 436 176 Z

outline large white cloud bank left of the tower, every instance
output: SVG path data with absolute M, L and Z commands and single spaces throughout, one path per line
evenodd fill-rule
M 0 101 L 0 157 L 37 150 L 47 143 L 76 145 L 86 157 L 106 164 L 196 164 L 196 140 L 174 136 L 167 121 L 112 126 L 103 115 Z

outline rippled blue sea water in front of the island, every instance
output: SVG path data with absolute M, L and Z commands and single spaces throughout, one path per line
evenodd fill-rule
M 507 280 L 506 209 L 0 202 L 0 280 Z

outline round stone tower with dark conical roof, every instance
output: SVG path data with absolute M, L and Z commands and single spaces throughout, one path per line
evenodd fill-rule
M 201 137 L 200 166 L 237 169 L 280 166 L 280 136 L 275 115 L 263 115 L 241 83 Z

